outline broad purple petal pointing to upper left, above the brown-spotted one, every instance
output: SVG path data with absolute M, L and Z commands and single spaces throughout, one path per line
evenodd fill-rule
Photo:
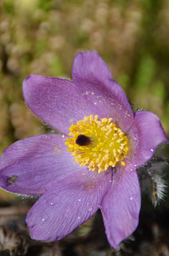
M 30 75 L 23 82 L 24 100 L 32 112 L 58 131 L 68 128 L 86 115 L 97 115 L 72 81 Z

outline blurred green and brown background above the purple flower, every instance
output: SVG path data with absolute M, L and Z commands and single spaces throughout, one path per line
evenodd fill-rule
M 47 132 L 24 105 L 29 74 L 71 77 L 80 50 L 97 50 L 134 108 L 169 134 L 168 0 L 1 0 L 0 153 Z

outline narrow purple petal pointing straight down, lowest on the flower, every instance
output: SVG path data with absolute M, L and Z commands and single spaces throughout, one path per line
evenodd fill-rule
M 130 165 L 114 172 L 109 193 L 101 204 L 106 236 L 115 249 L 137 228 L 140 213 L 140 185 Z

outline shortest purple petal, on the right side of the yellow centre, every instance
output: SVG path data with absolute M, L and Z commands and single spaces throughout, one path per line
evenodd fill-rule
M 160 119 L 152 112 L 137 111 L 134 124 L 129 130 L 129 137 L 137 166 L 144 164 L 155 153 L 161 143 L 168 142 Z

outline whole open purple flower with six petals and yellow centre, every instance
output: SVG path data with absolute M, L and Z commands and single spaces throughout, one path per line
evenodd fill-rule
M 33 239 L 61 239 L 100 208 L 106 236 L 117 249 L 138 224 L 136 169 L 168 140 L 157 115 L 132 111 L 95 51 L 77 54 L 72 76 L 24 80 L 29 109 L 63 135 L 25 138 L 5 149 L 0 185 L 42 195 L 27 214 Z

